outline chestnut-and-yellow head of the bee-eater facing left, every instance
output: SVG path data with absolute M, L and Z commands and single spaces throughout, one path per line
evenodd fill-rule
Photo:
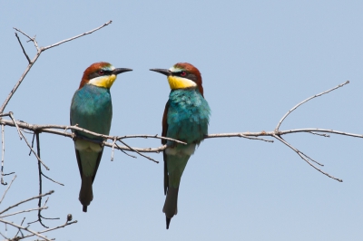
M 153 72 L 160 72 L 168 76 L 168 82 L 172 90 L 198 88 L 203 95 L 201 84 L 201 72 L 191 63 L 176 63 L 169 70 L 150 69 Z

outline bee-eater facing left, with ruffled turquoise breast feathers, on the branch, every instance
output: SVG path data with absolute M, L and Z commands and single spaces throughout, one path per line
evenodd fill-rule
M 168 148 L 163 151 L 166 228 L 177 214 L 179 185 L 188 159 L 204 135 L 208 133 L 211 109 L 203 96 L 201 72 L 191 63 L 176 63 L 169 70 L 151 69 L 165 74 L 172 89 L 162 117 L 162 136 L 182 140 L 187 145 L 162 140 Z

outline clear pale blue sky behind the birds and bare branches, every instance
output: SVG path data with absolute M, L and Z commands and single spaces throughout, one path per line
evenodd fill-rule
M 84 69 L 105 61 L 133 69 L 113 84 L 111 134 L 160 134 L 170 90 L 166 78 L 149 69 L 189 62 L 202 74 L 210 133 L 273 130 L 296 103 L 347 80 L 293 112 L 281 130 L 362 133 L 362 13 L 360 1 L 2 1 L 0 102 L 27 64 L 13 27 L 36 34 L 45 46 L 113 20 L 44 52 L 5 111 L 30 123 L 66 125 Z M 33 58 L 33 44 L 21 39 Z M 5 172 L 18 178 L 0 209 L 38 192 L 35 158 L 14 128 L 6 127 L 5 137 Z M 363 140 L 304 133 L 285 139 L 344 182 L 276 141 L 205 140 L 184 172 L 179 213 L 166 230 L 162 163 L 121 152 L 111 162 L 105 149 L 93 202 L 83 213 L 73 141 L 41 134 L 42 159 L 51 169 L 46 175 L 65 184 L 44 180 L 44 191 L 55 190 L 44 216 L 63 218 L 45 223 L 63 224 L 68 213 L 78 220 L 50 235 L 57 240 L 361 240 Z M 162 161 L 161 154 L 152 158 Z

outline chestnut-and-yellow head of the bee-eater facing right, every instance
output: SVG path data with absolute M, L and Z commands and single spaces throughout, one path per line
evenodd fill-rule
M 83 72 L 79 89 L 81 89 L 84 84 L 93 84 L 98 87 L 110 89 L 113 82 L 116 80 L 117 74 L 130 71 L 132 71 L 132 69 L 116 69 L 111 63 L 93 63 Z

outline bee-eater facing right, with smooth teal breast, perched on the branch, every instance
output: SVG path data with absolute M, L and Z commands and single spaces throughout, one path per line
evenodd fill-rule
M 71 125 L 108 135 L 113 119 L 113 104 L 110 88 L 117 74 L 132 69 L 114 68 L 111 63 L 93 63 L 83 72 L 79 89 L 74 93 L 71 103 Z M 73 130 L 74 148 L 78 168 L 82 178 L 79 200 L 83 212 L 93 200 L 92 184 L 103 154 L 103 138 L 83 131 Z M 77 138 L 78 137 L 78 138 Z M 87 141 L 96 140 L 99 143 Z

